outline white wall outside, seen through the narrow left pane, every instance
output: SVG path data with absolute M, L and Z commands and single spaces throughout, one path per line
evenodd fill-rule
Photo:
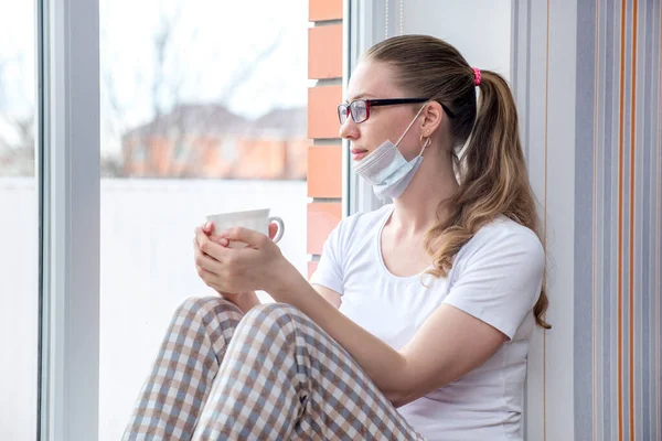
M 38 197 L 33 179 L 0 179 L 0 440 L 36 434 Z

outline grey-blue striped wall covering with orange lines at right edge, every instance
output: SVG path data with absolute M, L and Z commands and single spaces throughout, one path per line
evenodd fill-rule
M 576 440 L 662 439 L 660 3 L 577 1 Z

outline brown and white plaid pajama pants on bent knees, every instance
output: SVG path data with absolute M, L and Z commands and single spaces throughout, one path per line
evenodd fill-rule
M 424 440 L 356 362 L 282 303 L 175 312 L 124 440 Z

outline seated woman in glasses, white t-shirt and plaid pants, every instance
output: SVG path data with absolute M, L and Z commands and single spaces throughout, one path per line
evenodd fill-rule
M 528 340 L 548 325 L 508 84 L 405 35 L 364 55 L 348 98 L 353 168 L 393 204 L 343 219 L 310 283 L 261 234 L 197 229 L 222 298 L 179 309 L 125 439 L 522 439 Z

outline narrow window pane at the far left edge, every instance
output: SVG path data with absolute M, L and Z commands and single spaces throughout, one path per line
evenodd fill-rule
M 0 439 L 36 439 L 35 2 L 0 0 Z

